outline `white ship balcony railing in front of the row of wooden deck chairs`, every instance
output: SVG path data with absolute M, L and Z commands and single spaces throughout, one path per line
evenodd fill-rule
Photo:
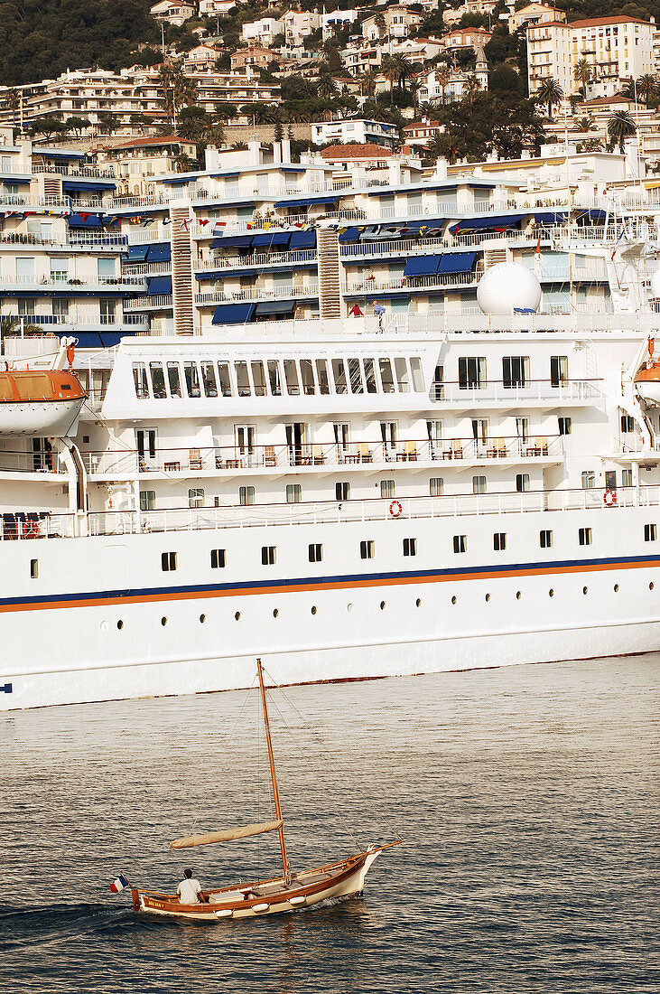
M 83 461 L 89 476 L 133 476 L 150 473 L 165 476 L 198 476 L 217 472 L 279 470 L 291 468 L 381 466 L 399 469 L 405 466 L 433 467 L 441 462 L 487 464 L 497 459 L 560 460 L 564 448 L 560 435 L 528 438 L 428 438 L 389 442 L 356 441 L 314 442 L 282 445 L 219 445 L 208 448 L 158 448 L 153 454 L 137 449 L 84 452 Z

